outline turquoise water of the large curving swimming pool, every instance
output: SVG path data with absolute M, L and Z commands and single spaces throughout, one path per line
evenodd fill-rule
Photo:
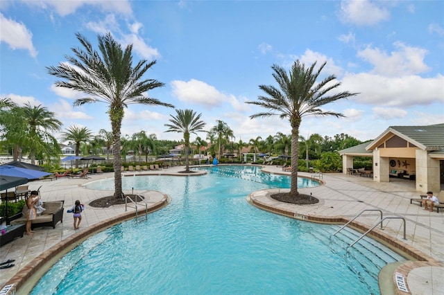
M 339 226 L 246 202 L 255 190 L 289 187 L 288 177 L 255 167 L 207 170 L 198 177 L 123 177 L 125 190 L 159 190 L 171 204 L 89 238 L 31 294 L 379 294 L 379 269 L 404 260 L 366 238 L 346 252 L 354 231 L 330 240 Z M 112 186 L 108 179 L 88 188 Z

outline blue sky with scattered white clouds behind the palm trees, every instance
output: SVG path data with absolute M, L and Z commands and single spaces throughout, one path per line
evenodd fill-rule
M 228 123 L 235 141 L 290 134 L 288 120 L 257 118 L 248 105 L 276 85 L 271 66 L 327 62 L 340 90 L 359 92 L 323 109 L 345 118 L 306 116 L 300 134 L 373 139 L 391 125 L 444 123 L 444 1 L 0 1 L 0 96 L 42 105 L 71 125 L 111 130 L 107 105 L 73 107 L 81 93 L 54 87 L 46 66 L 112 33 L 133 44 L 135 60 L 157 60 L 149 93 L 177 109 L 202 113 L 209 130 Z M 96 47 L 95 47 L 96 48 Z M 174 109 L 131 105 L 122 134 L 159 139 Z M 205 138 L 205 134 L 198 134 Z M 196 136 L 191 136 L 194 140 Z

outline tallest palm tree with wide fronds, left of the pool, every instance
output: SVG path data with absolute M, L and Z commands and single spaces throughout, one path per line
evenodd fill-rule
M 155 60 L 140 60 L 133 66 L 133 44 L 122 46 L 113 39 L 111 33 L 99 35 L 99 52 L 92 48 L 80 33 L 76 37 L 83 48 L 73 48 L 75 57 L 67 57 L 68 63 L 46 67 L 50 75 L 62 78 L 56 86 L 85 93 L 87 97 L 74 101 L 74 106 L 87 103 L 105 102 L 109 105 L 112 129 L 112 152 L 114 155 L 114 196 L 122 195 L 122 175 L 120 157 L 121 123 L 125 108 L 129 104 L 162 105 L 174 107 L 155 98 L 148 98 L 146 92 L 164 83 L 153 79 L 142 80 L 142 76 Z

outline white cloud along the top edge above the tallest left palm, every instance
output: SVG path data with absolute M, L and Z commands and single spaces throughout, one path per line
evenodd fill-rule
M 28 5 L 37 6 L 44 10 L 56 10 L 61 17 L 71 15 L 82 6 L 97 6 L 105 12 L 116 12 L 121 15 L 132 15 L 133 9 L 127 0 L 107 1 L 107 0 L 76 0 L 76 1 L 60 1 L 60 0 L 41 0 L 41 1 L 25 1 Z

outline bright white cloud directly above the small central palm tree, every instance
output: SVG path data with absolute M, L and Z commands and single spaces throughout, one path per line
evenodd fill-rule
M 211 109 L 219 105 L 230 103 L 237 111 L 248 109 L 244 101 L 239 101 L 235 96 L 218 91 L 213 86 L 198 80 L 191 79 L 189 82 L 175 80 L 171 82 L 173 96 L 178 100 L 190 104 L 198 104 Z

